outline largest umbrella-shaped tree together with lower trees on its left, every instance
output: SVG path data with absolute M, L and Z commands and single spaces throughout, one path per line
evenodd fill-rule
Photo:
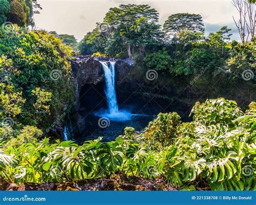
M 160 41 L 161 29 L 158 25 L 159 14 L 149 5 L 120 5 L 106 13 L 103 24 L 86 35 L 82 44 L 98 43 L 105 45 L 104 52 L 110 55 L 129 56 L 139 50 L 143 55 L 147 46 L 156 45 Z M 104 27 L 104 29 L 102 29 Z M 83 45 L 80 45 L 80 50 Z M 87 49 L 82 49 L 87 51 Z M 126 52 L 124 52 L 126 51 Z

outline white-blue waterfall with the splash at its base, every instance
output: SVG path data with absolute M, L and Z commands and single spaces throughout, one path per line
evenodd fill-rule
M 114 87 L 114 63 L 110 62 L 110 66 L 107 65 L 107 62 L 102 63 L 104 70 L 104 78 L 106 82 L 105 94 L 107 98 L 107 107 L 108 109 L 104 112 L 97 112 L 96 115 L 100 117 L 107 117 L 113 121 L 127 121 L 130 120 L 132 114 L 125 110 L 119 110 L 117 104 L 116 89 Z

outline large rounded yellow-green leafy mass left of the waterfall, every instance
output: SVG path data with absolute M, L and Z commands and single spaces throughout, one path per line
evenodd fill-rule
M 1 119 L 45 129 L 72 103 L 72 50 L 53 35 L 0 29 Z

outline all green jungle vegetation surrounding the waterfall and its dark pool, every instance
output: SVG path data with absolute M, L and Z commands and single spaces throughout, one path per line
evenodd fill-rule
M 224 98 L 197 102 L 192 122 L 160 113 L 142 133 L 127 127 L 113 142 L 77 145 L 49 132 L 75 102 L 73 55 L 130 58 L 166 75 L 255 73 L 255 37 L 231 41 L 230 29 L 204 34 L 202 17 L 166 19 L 149 5 L 120 5 L 76 45 L 69 35 L 28 29 L 35 1 L 0 0 L 0 177 L 8 183 L 75 182 L 113 173 L 161 178 L 179 189 L 255 190 L 256 103 L 246 111 Z M 18 12 L 17 12 L 18 11 Z M 11 22 L 12 24 L 6 24 Z M 77 50 L 77 51 L 74 51 Z M 255 84 L 255 77 L 250 79 Z

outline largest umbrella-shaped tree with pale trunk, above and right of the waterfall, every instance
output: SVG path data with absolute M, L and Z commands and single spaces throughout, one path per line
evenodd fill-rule
M 106 13 L 104 22 L 114 27 L 113 37 L 121 37 L 120 43 L 127 48 L 127 54 L 131 58 L 134 47 L 139 47 L 143 52 L 146 45 L 156 44 L 160 36 L 158 18 L 157 10 L 149 5 L 128 4 L 111 8 Z M 118 44 L 112 41 L 112 45 Z

